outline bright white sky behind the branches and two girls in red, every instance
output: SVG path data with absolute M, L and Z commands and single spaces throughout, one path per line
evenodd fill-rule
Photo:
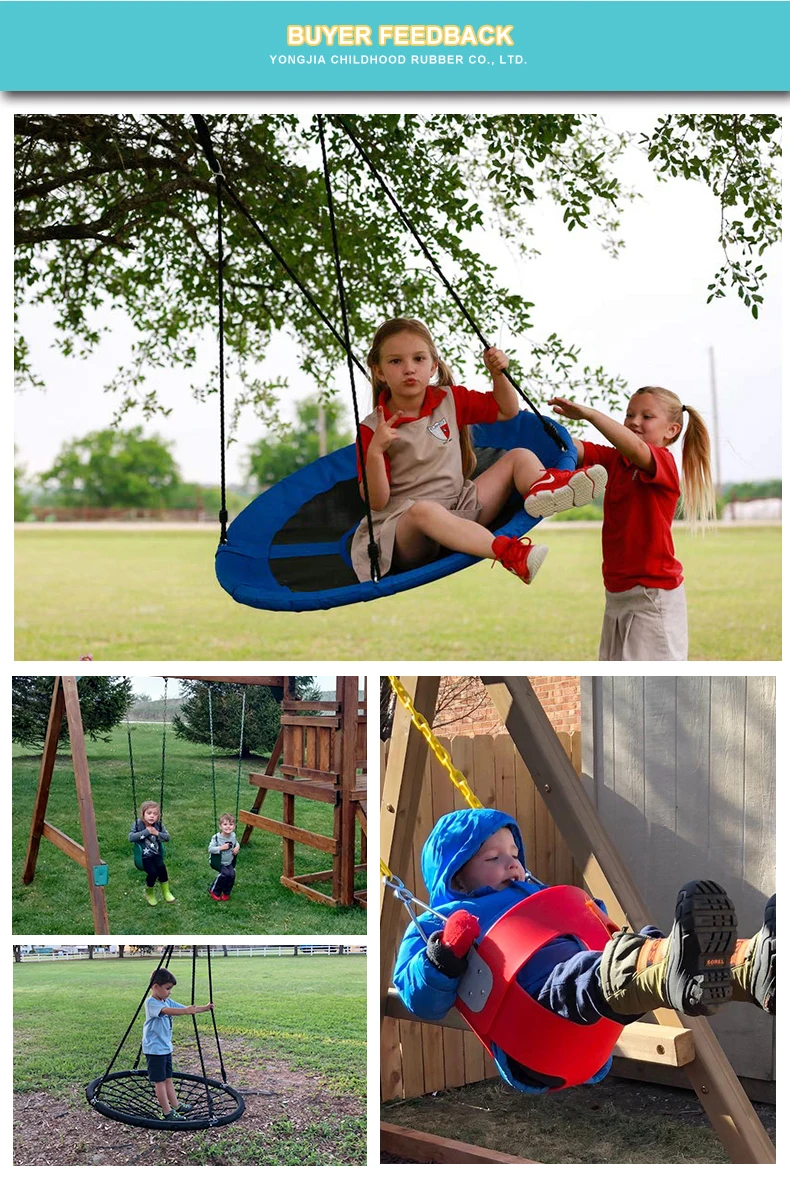
M 409 108 L 417 105 L 412 99 L 409 95 Z M 606 108 L 607 121 L 615 130 L 645 129 L 652 126 L 656 113 L 665 113 L 664 106 L 650 108 L 644 103 L 628 106 L 625 100 L 612 104 L 610 99 L 608 104 L 597 105 Z M 677 98 L 673 105 L 677 108 Z M 621 375 L 632 389 L 643 384 L 670 388 L 686 404 L 699 409 L 709 426 L 712 348 L 722 480 L 751 481 L 781 475 L 778 250 L 769 251 L 763 259 L 771 278 L 759 321 L 752 320 L 735 294 L 706 305 L 707 284 L 720 265 L 715 197 L 700 184 L 657 182 L 636 149 L 630 150 L 627 165 L 618 166 L 618 172 L 644 193 L 644 199 L 627 205 L 624 212 L 621 236 L 626 249 L 618 259 L 605 253 L 594 230 L 568 233 L 561 223 L 561 210 L 547 202 L 536 209 L 534 219 L 532 244 L 540 249 L 539 258 L 514 259 L 493 233 L 478 232 L 473 238 L 475 248 L 496 263 L 512 289 L 535 303 L 534 338 L 558 332 L 565 342 L 581 347 L 585 363 L 600 364 Z M 91 357 L 64 358 L 53 348 L 55 334 L 47 308 L 26 309 L 21 322 L 33 362 L 45 382 L 44 391 L 26 390 L 17 399 L 18 461 L 29 475 L 45 470 L 66 440 L 110 424 L 114 402 L 103 393 L 103 386 L 113 376 L 119 357 L 125 357 L 132 337 L 127 324 L 116 315 L 111 336 Z M 527 340 L 503 337 L 498 324 L 483 324 L 483 330 L 506 351 L 527 360 Z M 356 351 L 367 351 L 368 344 L 357 341 Z M 199 345 L 205 370 L 213 364 L 215 355 L 216 340 L 212 332 L 206 332 Z M 282 416 L 290 417 L 295 396 L 316 390 L 298 370 L 284 335 L 272 342 L 271 358 L 259 370 L 262 376 L 279 374 L 290 380 L 290 390 L 281 401 Z M 472 363 L 468 373 L 456 373 L 456 380 L 473 388 L 486 387 L 485 377 L 476 375 Z M 216 483 L 217 401 L 211 397 L 206 403 L 196 402 L 190 394 L 195 381 L 195 371 L 158 375 L 157 388 L 172 406 L 172 413 L 146 426 L 146 433 L 157 432 L 173 442 L 185 480 Z M 350 422 L 350 393 L 343 373 L 338 374 L 338 387 L 349 407 Z M 364 384 L 362 395 L 367 407 Z M 141 421 L 129 415 L 125 427 Z M 765 428 L 772 422 L 776 428 Z M 262 433 L 263 427 L 251 411 L 242 416 L 239 442 L 228 454 L 230 483 L 243 481 L 246 448 Z M 595 432 L 588 432 L 588 436 L 600 441 Z

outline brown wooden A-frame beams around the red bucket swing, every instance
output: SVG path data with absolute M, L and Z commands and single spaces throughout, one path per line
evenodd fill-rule
M 529 681 L 524 677 L 505 676 L 483 676 L 482 681 L 535 789 L 565 838 L 587 891 L 604 901 L 617 924 L 628 924 L 632 929 L 650 924 L 650 915 L 633 878 L 605 831 Z M 416 711 L 432 724 L 439 677 L 404 677 L 402 683 Z M 427 757 L 427 742 L 399 703 L 382 775 L 381 856 L 401 880 L 409 874 Z M 400 1026 L 397 1021 L 414 1021 L 415 1016 L 391 990 L 393 966 L 402 934 L 402 909 L 383 880 L 380 903 L 382 1056 L 397 1061 L 399 1046 L 393 1043 L 393 1036 L 397 1035 L 395 1029 Z M 618 1050 L 632 1060 L 660 1061 L 683 1068 L 732 1162 L 776 1162 L 773 1145 L 709 1021 L 687 1019 L 672 1010 L 658 1010 L 653 1016 L 657 1020 L 654 1023 L 640 1021 L 624 1028 Z M 441 1036 L 442 1027 L 463 1028 L 466 1025 L 453 1008 L 445 1020 L 424 1025 L 423 1033 L 430 1028 L 432 1035 Z M 400 1067 L 404 1066 L 403 1041 Z M 391 1067 L 399 1066 L 394 1063 Z M 382 1122 L 381 1147 L 400 1158 L 420 1162 L 532 1161 L 388 1122 Z

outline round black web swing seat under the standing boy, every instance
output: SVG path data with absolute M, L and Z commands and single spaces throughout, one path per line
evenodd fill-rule
M 146 1129 L 210 1129 L 228 1126 L 244 1113 L 244 1098 L 223 1081 L 197 1073 L 173 1073 L 172 1080 L 179 1105 L 192 1106 L 191 1113 L 180 1120 L 169 1121 L 162 1117 L 153 1085 L 144 1068 L 97 1076 L 85 1095 L 105 1118 Z

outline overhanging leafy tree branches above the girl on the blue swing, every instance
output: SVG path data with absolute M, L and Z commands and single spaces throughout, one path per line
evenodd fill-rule
M 710 297 L 733 288 L 752 314 L 762 299 L 762 256 L 779 235 L 781 121 L 773 114 L 670 114 L 639 138 L 612 133 L 594 114 L 366 114 L 347 124 L 364 144 L 424 241 L 481 324 L 522 337 L 532 303 L 496 281 L 470 244 L 488 226 L 528 255 L 531 212 L 554 202 L 570 231 L 594 228 L 605 249 L 623 245 L 619 217 L 633 193 L 617 174 L 632 139 L 665 178 L 707 185 L 720 217 L 711 233 L 723 262 Z M 296 114 L 218 114 L 209 119 L 225 174 L 285 261 L 340 323 L 327 197 L 315 120 Z M 216 324 L 213 179 L 192 121 L 179 114 L 18 116 L 15 120 L 17 302 L 54 308 L 61 349 L 84 355 L 106 328 L 97 315 L 119 308 L 138 331 L 129 364 L 111 388 L 120 411 L 162 409 L 147 374 L 196 362 L 196 338 Z M 396 314 L 436 332 L 450 363 L 468 357 L 466 324 L 406 233 L 337 117 L 327 124 L 350 335 L 357 350 Z M 331 391 L 342 349 L 250 224 L 225 219 L 226 356 L 237 364 L 241 403 L 275 402 L 277 380 L 250 369 L 272 334 L 287 329 L 299 364 Z M 559 386 L 611 402 L 620 382 L 580 361 L 555 335 L 528 338 L 525 386 L 538 396 Z M 20 380 L 37 380 L 18 335 Z M 216 374 L 208 387 L 213 388 Z M 199 390 L 199 394 L 205 390 Z

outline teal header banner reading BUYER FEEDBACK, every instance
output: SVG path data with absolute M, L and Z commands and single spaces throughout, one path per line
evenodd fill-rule
M 786 91 L 788 2 L 6 2 L 5 91 Z

